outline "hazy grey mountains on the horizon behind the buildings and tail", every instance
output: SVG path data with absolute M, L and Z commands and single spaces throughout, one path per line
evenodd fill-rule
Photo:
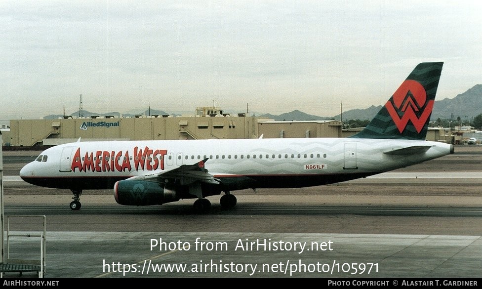
M 341 119 L 343 121 L 346 120 L 371 120 L 378 111 L 382 108 L 381 105 L 379 106 L 370 106 L 366 109 L 352 109 L 346 112 L 343 112 L 341 115 Z M 457 119 L 460 117 L 461 119 L 470 119 L 482 114 L 482 84 L 477 84 L 474 87 L 470 88 L 469 90 L 465 91 L 464 93 L 458 94 L 454 98 L 445 98 L 442 100 L 436 100 L 434 104 L 434 109 L 432 111 L 431 120 L 435 121 L 437 119 Z M 80 113 L 79 111 L 71 114 L 71 116 L 83 116 L 83 117 L 92 117 L 92 116 L 115 116 L 115 117 L 135 117 L 136 115 L 143 115 L 143 116 L 154 116 L 154 115 L 171 115 L 171 116 L 179 116 L 180 114 L 176 113 L 167 113 L 162 110 L 156 109 L 148 109 L 145 111 L 140 111 L 138 113 L 129 112 L 129 113 L 119 113 L 119 112 L 111 112 L 111 113 L 92 113 L 86 110 L 82 110 Z M 276 121 L 323 121 L 323 120 L 340 120 L 340 115 L 329 116 L 329 117 L 320 117 L 309 115 L 299 110 L 294 110 L 292 112 L 284 113 L 281 115 L 271 115 L 271 114 L 260 114 L 259 117 L 265 117 L 269 119 L 273 119 Z M 44 119 L 57 119 L 62 118 L 62 115 L 48 115 L 45 116 Z

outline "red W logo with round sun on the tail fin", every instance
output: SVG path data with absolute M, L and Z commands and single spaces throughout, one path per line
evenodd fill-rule
M 393 104 L 389 100 L 385 104 L 392 120 L 397 125 L 400 133 L 411 121 L 418 133 L 422 131 L 434 107 L 434 100 L 427 102 L 427 92 L 422 84 L 414 80 L 406 80 L 393 94 Z M 395 107 L 394 107 L 395 105 Z M 415 112 L 422 110 L 420 117 Z M 399 117 L 401 112 L 402 118 Z

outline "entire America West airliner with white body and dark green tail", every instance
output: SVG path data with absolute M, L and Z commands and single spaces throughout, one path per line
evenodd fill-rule
M 25 165 L 31 184 L 69 189 L 80 209 L 84 190 L 113 189 L 118 204 L 162 205 L 196 199 L 197 213 L 210 211 L 206 197 L 232 191 L 299 188 L 362 178 L 453 153 L 427 141 L 427 129 L 443 62 L 420 63 L 374 119 L 346 138 L 78 141 L 54 146 Z

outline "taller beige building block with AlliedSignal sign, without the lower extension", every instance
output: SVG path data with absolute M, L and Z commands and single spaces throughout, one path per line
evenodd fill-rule
M 265 120 L 265 119 L 262 119 Z M 139 117 L 11 120 L 11 146 L 58 145 L 82 140 L 256 138 L 256 117 Z

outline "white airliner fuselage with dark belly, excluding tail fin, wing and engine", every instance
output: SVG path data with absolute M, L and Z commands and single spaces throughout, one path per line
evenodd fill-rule
M 416 154 L 386 154 L 413 146 L 430 148 Z M 106 189 L 117 180 L 208 159 L 205 168 L 227 190 L 289 188 L 373 175 L 451 151 L 451 145 L 440 142 L 360 138 L 76 142 L 43 151 L 42 158 L 25 165 L 20 176 L 46 187 Z

